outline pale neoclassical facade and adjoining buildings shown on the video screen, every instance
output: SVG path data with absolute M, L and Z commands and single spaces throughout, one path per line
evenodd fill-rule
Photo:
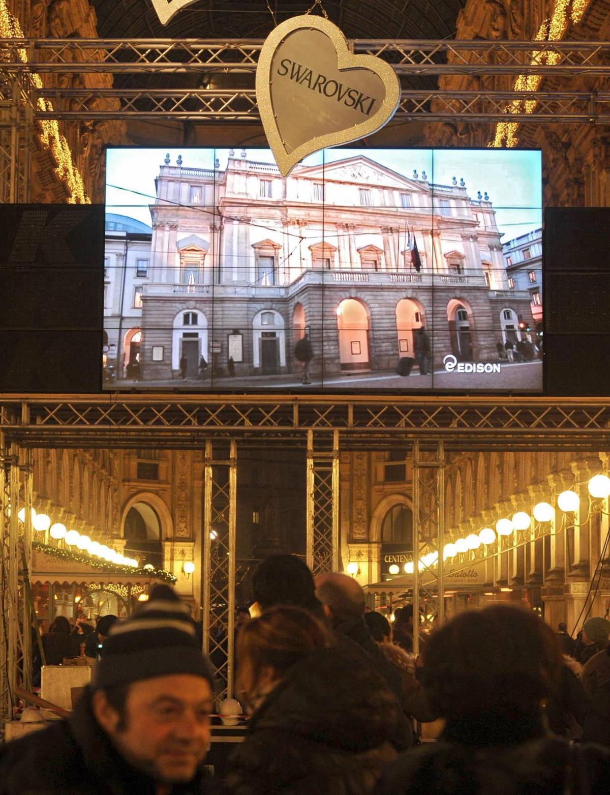
M 531 320 L 530 296 L 509 289 L 487 194 L 473 200 L 452 181 L 360 154 L 287 178 L 244 151 L 224 170 L 166 161 L 149 254 L 141 236 L 122 248 L 107 231 L 106 343 L 118 378 L 133 363 L 143 380 L 174 378 L 181 360 L 195 378 L 202 356 L 215 374 L 298 372 L 294 345 L 306 333 L 313 373 L 393 371 L 422 325 L 434 366 L 449 354 L 495 361 L 498 343 L 520 339 L 520 317 Z

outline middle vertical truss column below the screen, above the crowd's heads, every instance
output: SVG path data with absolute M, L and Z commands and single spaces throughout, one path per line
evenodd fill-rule
M 314 576 L 339 569 L 339 432 L 332 447 L 307 431 L 307 565 Z

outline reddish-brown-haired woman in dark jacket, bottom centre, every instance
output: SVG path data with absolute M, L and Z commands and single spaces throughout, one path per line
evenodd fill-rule
M 403 718 L 384 680 L 351 664 L 299 607 L 272 607 L 245 624 L 237 654 L 237 697 L 252 719 L 231 758 L 227 793 L 373 793 L 404 747 Z

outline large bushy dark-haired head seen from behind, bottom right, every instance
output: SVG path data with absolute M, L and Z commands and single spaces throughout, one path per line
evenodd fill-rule
M 431 634 L 424 662 L 431 703 L 457 720 L 534 712 L 553 691 L 562 657 L 542 619 L 497 604 L 465 611 Z

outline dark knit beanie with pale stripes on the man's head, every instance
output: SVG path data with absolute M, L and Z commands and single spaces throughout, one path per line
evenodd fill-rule
M 197 642 L 187 604 L 170 588 L 160 597 L 153 588 L 145 606 L 124 622 L 115 622 L 95 666 L 95 689 L 172 673 L 203 677 L 214 688 L 214 672 Z

